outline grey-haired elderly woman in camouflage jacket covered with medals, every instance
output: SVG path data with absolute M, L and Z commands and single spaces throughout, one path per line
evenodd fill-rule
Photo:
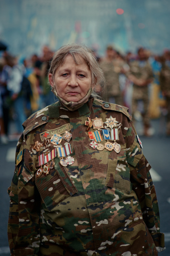
M 23 124 L 9 188 L 11 255 L 148 256 L 164 250 L 151 166 L 127 109 L 95 99 L 89 48 L 53 56 L 59 101 Z

